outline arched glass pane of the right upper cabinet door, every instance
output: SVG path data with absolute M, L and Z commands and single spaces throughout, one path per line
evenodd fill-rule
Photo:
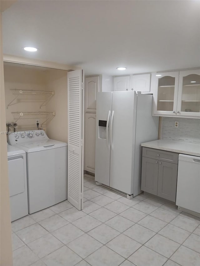
M 182 112 L 200 112 L 200 75 L 183 77 Z

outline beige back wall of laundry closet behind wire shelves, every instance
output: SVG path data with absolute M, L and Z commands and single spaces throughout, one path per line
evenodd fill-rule
M 11 89 L 22 90 L 47 90 L 45 81 L 45 70 L 40 67 L 28 67 L 26 65 L 4 63 L 4 82 L 6 106 L 15 98 Z M 19 95 L 8 109 L 6 109 L 6 122 L 15 122 L 12 112 L 38 112 L 46 111 L 46 107 L 40 105 L 45 95 Z M 19 119 L 16 131 L 37 129 L 36 119 L 40 123 L 44 118 Z

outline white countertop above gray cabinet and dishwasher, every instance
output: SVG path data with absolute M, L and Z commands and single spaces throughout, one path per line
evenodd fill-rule
M 141 144 L 142 147 L 200 156 L 200 144 L 158 139 Z

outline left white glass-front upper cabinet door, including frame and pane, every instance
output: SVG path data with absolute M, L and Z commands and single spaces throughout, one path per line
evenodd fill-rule
M 176 116 L 179 72 L 153 73 L 153 115 Z

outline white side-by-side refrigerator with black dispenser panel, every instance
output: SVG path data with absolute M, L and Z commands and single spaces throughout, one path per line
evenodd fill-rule
M 128 198 L 141 193 L 141 143 L 158 139 L 152 99 L 135 91 L 97 95 L 95 181 Z

